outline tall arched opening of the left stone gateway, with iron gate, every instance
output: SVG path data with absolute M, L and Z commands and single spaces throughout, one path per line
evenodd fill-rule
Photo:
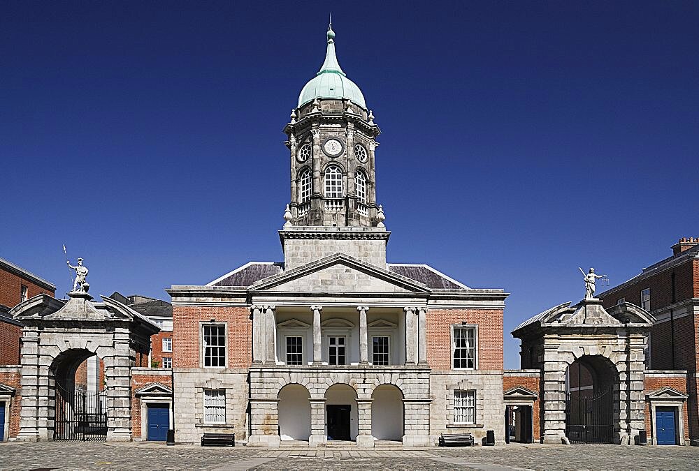
M 99 357 L 83 349 L 66 350 L 52 362 L 54 440 L 106 440 L 107 398 L 102 365 Z

